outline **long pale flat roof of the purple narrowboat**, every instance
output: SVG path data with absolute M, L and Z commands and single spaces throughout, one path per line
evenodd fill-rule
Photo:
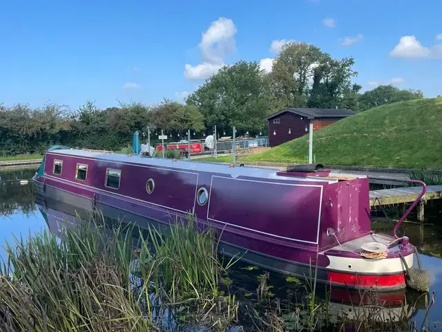
M 80 149 L 57 149 L 52 151 L 47 151 L 48 154 L 62 154 L 66 156 L 77 156 L 80 158 L 91 158 L 97 160 L 107 160 L 117 163 L 133 163 L 140 165 L 151 165 L 157 167 L 170 167 L 173 169 L 183 169 L 187 171 L 200 171 L 200 172 L 211 172 L 218 174 L 227 174 L 233 178 L 238 176 L 251 176 L 256 178 L 269 178 L 269 179 L 280 179 L 280 180 L 293 180 L 293 181 L 312 181 L 312 182 L 327 182 L 336 183 L 337 178 L 326 178 L 326 177 L 316 177 L 316 176 L 279 176 L 277 172 L 278 169 L 264 168 L 264 167 L 230 167 L 228 164 L 222 163 L 207 163 L 202 161 L 194 160 L 172 160 L 166 158 L 146 158 L 137 155 L 128 156 L 127 154 L 117 154 L 117 153 L 104 153 L 102 151 L 88 151 Z M 332 176 L 332 174 L 330 174 Z M 335 174 L 340 177 L 344 174 Z M 353 176 L 354 178 L 365 178 L 366 176 Z

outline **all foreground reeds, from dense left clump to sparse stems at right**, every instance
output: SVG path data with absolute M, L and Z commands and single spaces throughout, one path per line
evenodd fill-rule
M 198 229 L 193 216 L 144 232 L 121 223 L 108 228 L 95 216 L 77 227 L 66 223 L 60 238 L 44 231 L 17 239 L 6 246 L 0 273 L 0 331 L 138 332 L 195 324 L 225 331 L 237 322 L 252 331 L 416 331 L 410 308 L 387 317 L 376 294 L 369 295 L 372 305 L 352 305 L 352 317 L 332 315 L 332 288 L 325 300 L 318 298 L 314 264 L 307 282 L 287 279 L 294 290 L 273 288 L 265 272 L 256 301 L 239 305 L 227 277 L 236 258 L 222 264 L 217 246 L 215 232 Z

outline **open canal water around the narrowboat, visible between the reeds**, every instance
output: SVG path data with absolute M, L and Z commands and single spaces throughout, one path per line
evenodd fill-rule
M 38 205 L 34 203 L 35 187 L 30 179 L 35 171 L 36 168 L 0 169 L 0 258 L 3 261 L 8 259 L 4 248 L 6 243 L 13 245 L 16 239 L 26 239 L 29 235 L 49 229 L 48 218 L 41 214 Z M 442 331 L 442 305 L 438 303 L 439 296 L 442 296 L 442 228 L 439 225 L 442 225 L 442 216 L 436 211 L 425 225 L 407 223 L 400 228 L 401 234 L 410 237 L 410 241 L 419 248 L 423 268 L 430 273 L 432 279 L 430 295 L 426 298 L 421 297 L 421 293 L 405 291 L 403 304 L 409 311 L 414 307 L 410 320 L 416 322 L 417 329 L 425 326 L 431 331 Z M 372 226 L 376 232 L 391 232 L 392 229 L 390 223 L 381 221 Z M 239 288 L 245 290 L 247 296 L 247 289 L 249 288 L 250 292 L 256 291 L 257 283 L 267 274 L 256 267 L 240 265 L 233 271 L 233 275 L 236 275 Z M 271 273 L 267 284 L 272 285 L 276 297 L 284 297 L 290 282 L 285 276 Z M 427 312 L 425 306 L 431 302 L 433 291 L 436 302 Z M 351 312 L 355 303 L 344 303 L 342 299 L 348 298 L 348 295 L 343 292 L 345 293 L 340 290 L 317 291 L 316 295 L 333 302 L 333 306 L 330 306 L 331 313 L 334 310 L 341 313 Z M 388 296 L 386 298 L 388 301 Z M 440 300 L 442 301 L 442 297 Z

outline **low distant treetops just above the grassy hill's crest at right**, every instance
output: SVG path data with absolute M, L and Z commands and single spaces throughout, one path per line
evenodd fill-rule
M 423 98 L 421 90 L 401 90 L 390 84 L 380 85 L 370 91 L 365 91 L 365 93 L 359 97 L 358 104 L 361 111 L 365 111 L 383 104 L 421 98 Z

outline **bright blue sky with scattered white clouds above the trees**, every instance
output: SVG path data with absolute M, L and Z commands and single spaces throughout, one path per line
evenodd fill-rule
M 354 57 L 354 82 L 442 94 L 441 0 L 0 3 L 0 104 L 182 102 L 224 64 L 271 70 L 287 41 Z

